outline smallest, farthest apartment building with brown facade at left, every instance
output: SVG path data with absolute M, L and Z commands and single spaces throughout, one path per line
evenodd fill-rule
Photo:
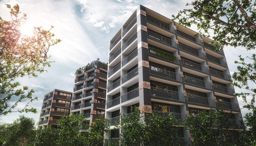
M 54 89 L 44 95 L 38 128 L 51 125 L 57 128 L 57 121 L 63 116 L 69 116 L 72 92 Z

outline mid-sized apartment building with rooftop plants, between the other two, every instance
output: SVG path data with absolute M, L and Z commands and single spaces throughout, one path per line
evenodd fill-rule
M 107 64 L 86 67 L 77 74 L 71 102 L 71 114 L 84 115 L 88 123 L 105 117 Z

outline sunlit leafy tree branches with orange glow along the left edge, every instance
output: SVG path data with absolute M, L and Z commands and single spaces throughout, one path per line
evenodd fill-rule
M 54 36 L 50 30 L 44 30 L 42 27 L 34 28 L 34 35 L 22 36 L 20 29 L 26 22 L 27 16 L 20 16 L 20 7 L 18 4 L 10 9 L 11 20 L 6 21 L 0 17 L 0 115 L 11 112 L 31 111 L 36 113 L 37 109 L 28 108 L 29 102 L 37 100 L 33 97 L 33 89 L 28 91 L 27 86 L 20 88 L 20 83 L 15 82 L 18 77 L 37 77 L 36 72 L 46 71 L 46 66 L 51 66 L 48 51 L 51 46 L 59 43 L 59 39 L 52 39 Z M 13 97 L 18 100 L 10 106 L 8 102 Z M 19 102 L 27 100 L 23 109 L 12 111 Z

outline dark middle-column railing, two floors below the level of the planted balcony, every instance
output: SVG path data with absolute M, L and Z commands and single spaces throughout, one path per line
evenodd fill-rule
M 201 104 L 201 105 L 215 106 L 215 100 L 214 99 L 208 99 L 207 97 L 187 96 L 187 100 L 190 103 L 197 103 L 197 104 Z

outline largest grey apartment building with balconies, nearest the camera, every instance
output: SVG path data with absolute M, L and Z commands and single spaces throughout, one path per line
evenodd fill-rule
M 220 106 L 239 124 L 224 52 L 211 41 L 140 5 L 110 40 L 105 117 L 111 128 L 131 106 L 180 120 Z M 119 138 L 119 132 L 105 139 Z M 190 142 L 190 131 L 181 128 L 180 136 Z

